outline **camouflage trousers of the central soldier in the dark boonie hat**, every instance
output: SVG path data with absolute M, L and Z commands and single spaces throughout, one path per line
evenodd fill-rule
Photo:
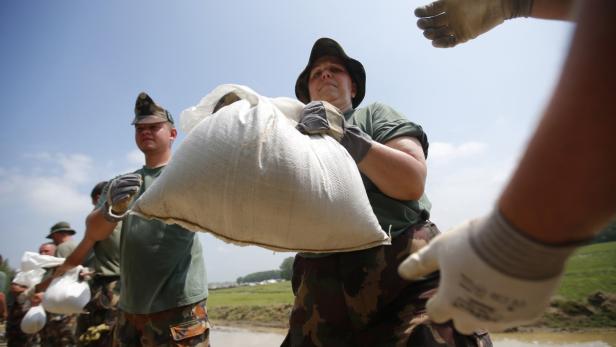
M 308 257 L 293 264 L 295 302 L 282 346 L 492 346 L 485 332 L 462 335 L 425 313 L 438 273 L 405 281 L 398 265 L 439 233 L 431 222 L 404 231 L 390 246 Z

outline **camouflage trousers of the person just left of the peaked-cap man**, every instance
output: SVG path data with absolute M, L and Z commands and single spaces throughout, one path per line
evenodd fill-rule
M 118 315 L 120 297 L 119 278 L 116 276 L 95 277 L 90 283 L 92 299 L 84 310 L 87 313 L 77 317 L 77 338 L 79 346 L 111 346 L 113 328 Z

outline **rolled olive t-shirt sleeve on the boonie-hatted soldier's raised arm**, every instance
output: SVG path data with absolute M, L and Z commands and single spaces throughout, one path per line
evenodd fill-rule
M 428 137 L 419 124 L 409 121 L 401 113 L 382 103 L 370 105 L 370 115 L 372 133 L 369 135 L 373 140 L 385 143 L 401 136 L 414 137 L 419 140 L 424 156 L 428 157 Z

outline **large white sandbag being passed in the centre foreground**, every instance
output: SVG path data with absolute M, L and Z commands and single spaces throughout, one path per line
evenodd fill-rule
M 229 93 L 240 100 L 213 113 Z M 346 150 L 295 129 L 303 107 L 244 86 L 217 87 L 182 112 L 190 132 L 132 213 L 279 251 L 389 244 Z

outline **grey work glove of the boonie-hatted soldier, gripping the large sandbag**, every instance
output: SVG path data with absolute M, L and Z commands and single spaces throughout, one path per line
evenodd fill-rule
M 370 136 L 355 125 L 347 123 L 344 116 L 332 104 L 312 101 L 302 110 L 297 130 L 306 135 L 329 135 L 336 139 L 359 163 L 372 147 Z

